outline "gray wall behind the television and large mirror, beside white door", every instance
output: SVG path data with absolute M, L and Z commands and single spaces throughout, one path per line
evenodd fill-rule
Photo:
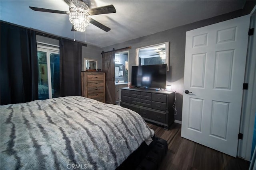
M 255 2 L 254 2 L 255 4 Z M 253 8 L 253 6 L 252 6 Z M 244 10 L 237 10 L 228 14 L 210 18 L 207 20 L 198 21 L 188 25 L 168 29 L 159 33 L 132 39 L 123 43 L 111 45 L 102 48 L 104 51 L 111 51 L 113 48 L 120 49 L 131 46 L 129 49 L 129 68 L 135 65 L 135 50 L 136 48 L 145 47 L 148 45 L 154 45 L 158 43 L 170 42 L 170 67 L 167 73 L 167 84 L 172 85 L 172 90 L 177 92 L 176 97 L 176 109 L 178 114 L 175 115 L 175 119 L 182 120 L 182 100 L 183 100 L 183 82 L 184 82 L 184 59 L 185 59 L 185 43 L 186 43 L 186 31 L 218 23 L 220 21 L 237 18 L 245 14 L 249 14 L 251 9 L 244 8 Z M 129 81 L 131 80 L 131 69 L 129 69 Z

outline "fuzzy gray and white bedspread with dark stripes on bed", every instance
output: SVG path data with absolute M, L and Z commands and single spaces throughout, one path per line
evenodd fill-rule
M 0 108 L 3 170 L 114 170 L 154 135 L 136 112 L 81 96 Z

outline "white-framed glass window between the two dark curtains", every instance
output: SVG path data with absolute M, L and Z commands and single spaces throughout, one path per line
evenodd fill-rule
M 43 45 L 37 47 L 38 99 L 60 97 L 60 50 Z

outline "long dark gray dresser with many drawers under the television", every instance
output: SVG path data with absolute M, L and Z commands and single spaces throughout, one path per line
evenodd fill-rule
M 145 88 L 121 88 L 121 106 L 139 113 L 145 121 L 169 130 L 174 122 L 175 93 Z

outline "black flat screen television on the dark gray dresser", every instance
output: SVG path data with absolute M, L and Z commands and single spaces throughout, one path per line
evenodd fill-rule
M 167 64 L 132 66 L 132 86 L 166 88 Z

